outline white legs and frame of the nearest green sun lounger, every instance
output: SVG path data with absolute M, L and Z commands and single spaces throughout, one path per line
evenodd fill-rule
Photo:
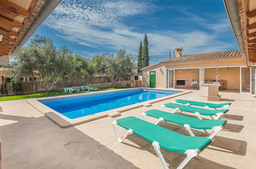
M 129 129 L 128 132 L 125 134 L 125 136 L 121 139 L 120 136 L 119 136 L 119 132 L 117 131 L 116 125 L 117 125 L 117 123 L 116 123 L 116 120 L 115 120 L 115 121 L 112 122 L 112 126 L 113 126 L 113 128 L 114 128 L 115 136 L 116 136 L 116 138 L 117 138 L 117 140 L 118 140 L 119 142 L 123 142 L 124 139 L 126 139 L 127 136 L 133 134 L 133 133 L 132 133 L 132 130 Z M 211 139 L 211 138 L 210 138 L 210 139 Z M 154 141 L 154 142 L 152 143 L 152 145 L 153 145 L 154 151 L 156 152 L 158 158 L 160 159 L 160 161 L 161 161 L 163 167 L 164 167 L 165 169 L 168 169 L 169 167 L 168 167 L 167 163 L 165 162 L 165 159 L 164 159 L 163 154 L 162 154 L 161 151 L 160 151 L 160 145 L 159 145 L 159 143 L 156 142 L 156 141 Z M 182 163 L 177 167 L 177 169 L 182 169 L 185 165 L 187 165 L 187 163 L 188 163 L 193 157 L 198 156 L 198 155 L 201 153 L 201 151 L 200 151 L 199 149 L 194 149 L 194 150 L 187 150 L 187 151 L 184 152 L 184 153 L 187 154 L 187 157 L 182 161 Z

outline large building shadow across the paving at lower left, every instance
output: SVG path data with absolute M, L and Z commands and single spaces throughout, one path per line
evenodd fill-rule
M 0 126 L 3 168 L 137 168 L 74 127 L 62 129 L 42 116 Z

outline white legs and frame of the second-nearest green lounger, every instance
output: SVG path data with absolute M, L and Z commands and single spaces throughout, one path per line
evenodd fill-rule
M 145 121 L 148 121 L 147 118 L 146 118 L 147 114 L 146 114 L 145 112 L 143 112 L 141 115 L 142 115 L 142 117 L 143 117 L 143 119 L 144 119 Z M 156 121 L 155 125 L 157 125 L 158 123 L 160 123 L 160 122 L 162 122 L 162 121 L 165 121 L 165 120 L 164 120 L 164 118 L 160 117 L 160 118 Z M 169 121 L 167 121 L 167 122 L 169 122 Z M 175 123 L 175 124 L 176 124 L 176 123 Z M 186 129 L 186 131 L 188 131 L 188 133 L 190 134 L 190 136 L 195 136 L 194 133 L 191 131 L 191 127 L 190 127 L 189 124 L 184 124 L 183 126 L 184 126 L 184 128 Z M 206 129 L 203 129 L 203 130 L 204 130 L 204 132 L 205 132 L 206 134 L 210 135 L 208 138 L 213 139 L 213 137 L 214 137 L 220 130 L 222 130 L 222 129 L 223 129 L 223 126 L 222 126 L 222 125 L 219 125 L 219 126 L 214 126 L 214 127 L 211 129 L 211 130 L 213 130 L 212 133 L 208 133 L 208 132 L 206 131 Z

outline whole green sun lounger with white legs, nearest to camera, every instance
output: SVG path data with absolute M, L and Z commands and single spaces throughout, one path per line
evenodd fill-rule
M 152 142 L 157 156 L 166 169 L 168 166 L 160 151 L 160 147 L 168 151 L 187 154 L 187 157 L 178 167 L 183 168 L 193 157 L 198 156 L 212 142 L 211 138 L 185 136 L 132 116 L 115 120 L 112 122 L 112 125 L 119 142 L 123 142 L 130 134 L 135 134 Z M 120 125 L 128 130 L 122 139 L 119 136 L 116 125 Z

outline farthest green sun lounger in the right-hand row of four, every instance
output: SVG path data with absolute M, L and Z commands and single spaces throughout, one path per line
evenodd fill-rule
M 186 105 L 197 105 L 200 107 L 205 107 L 206 109 L 210 109 L 213 108 L 216 110 L 216 108 L 222 108 L 222 109 L 227 109 L 229 107 L 229 105 L 231 104 L 230 102 L 227 103 L 220 103 L 220 104 L 214 104 L 214 103 L 206 103 L 206 102 L 199 102 L 199 101 L 190 101 L 190 100 L 182 100 L 182 99 L 178 99 L 178 100 L 174 100 L 174 103 L 182 103 L 182 104 L 186 104 Z

